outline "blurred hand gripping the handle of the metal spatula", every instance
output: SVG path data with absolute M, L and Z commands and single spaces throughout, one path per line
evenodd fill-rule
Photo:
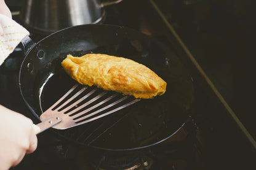
M 16 166 L 37 145 L 30 118 L 0 105 L 0 169 Z

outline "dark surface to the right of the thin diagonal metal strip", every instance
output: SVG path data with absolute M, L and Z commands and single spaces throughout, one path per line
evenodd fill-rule
M 155 2 L 225 101 L 255 137 L 256 2 Z

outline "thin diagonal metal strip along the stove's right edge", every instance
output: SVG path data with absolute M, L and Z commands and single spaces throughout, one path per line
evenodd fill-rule
M 252 144 L 252 147 L 254 147 L 254 149 L 256 149 L 256 141 L 254 140 L 254 137 L 252 137 L 252 135 L 249 133 L 249 131 L 247 131 L 246 127 L 242 124 L 242 122 L 239 120 L 239 118 L 236 116 L 236 114 L 234 113 L 234 111 L 231 109 L 231 107 L 228 105 L 228 103 L 225 101 L 225 99 L 223 98 L 223 96 L 220 94 L 220 92 L 217 90 L 217 88 L 215 87 L 214 83 L 211 82 L 211 80 L 209 79 L 209 77 L 206 75 L 206 73 L 204 72 L 204 70 L 201 68 L 201 66 L 199 65 L 199 63 L 196 61 L 196 59 L 194 58 L 194 56 L 192 55 L 192 53 L 190 52 L 190 50 L 188 50 L 188 48 L 186 47 L 186 45 L 183 43 L 182 39 L 180 38 L 180 36 L 178 36 L 178 34 L 176 33 L 175 29 L 173 28 L 173 26 L 169 23 L 169 21 L 167 20 L 167 18 L 164 16 L 164 14 L 161 12 L 161 10 L 159 9 L 158 5 L 154 2 L 154 0 L 148 0 L 151 5 L 153 6 L 153 8 L 156 10 L 156 12 L 159 14 L 159 17 L 161 17 L 162 21 L 165 23 L 165 25 L 167 26 L 167 28 L 169 29 L 170 33 L 172 33 L 175 36 L 175 39 L 177 40 L 178 44 L 181 45 L 181 47 L 183 48 L 183 50 L 185 51 L 186 55 L 188 56 L 188 58 L 190 58 L 191 62 L 194 64 L 194 66 L 196 66 L 196 69 L 198 69 L 198 72 L 202 75 L 202 77 L 204 77 L 204 79 L 207 82 L 207 85 L 209 85 L 210 89 L 213 91 L 213 93 L 215 94 L 215 96 L 217 96 L 218 100 L 222 103 L 223 107 L 225 107 L 226 111 L 228 112 L 228 114 L 230 114 L 230 116 L 233 118 L 234 122 L 236 123 L 236 125 L 238 125 L 238 127 L 241 129 L 242 133 L 244 134 L 244 136 L 246 136 L 247 140 L 250 142 L 250 144 Z

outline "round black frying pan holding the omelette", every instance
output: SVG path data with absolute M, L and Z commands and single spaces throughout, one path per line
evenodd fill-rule
M 122 151 L 159 144 L 182 128 L 194 100 L 191 75 L 169 45 L 114 25 L 73 26 L 31 45 L 20 68 L 19 83 L 26 105 L 38 120 L 76 83 L 63 70 L 62 60 L 68 54 L 87 53 L 122 56 L 144 64 L 167 82 L 166 93 L 94 122 L 51 131 L 86 147 Z

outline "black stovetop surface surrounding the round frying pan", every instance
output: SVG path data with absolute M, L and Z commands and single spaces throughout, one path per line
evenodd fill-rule
M 193 77 L 196 102 L 188 122 L 175 136 L 143 150 L 135 158 L 133 155 L 123 160 L 120 156 L 119 160 L 111 163 L 128 164 L 119 169 L 255 169 L 254 147 L 206 82 L 207 75 L 198 71 L 152 2 L 124 0 L 106 7 L 104 23 L 137 29 L 170 45 Z M 17 5 L 14 7 L 15 11 L 18 10 Z M 18 13 L 14 20 L 18 21 Z M 39 41 L 44 35 L 31 33 L 31 37 Z M 18 87 L 22 60 L 22 49 L 18 47 L 0 67 L 0 104 L 37 121 L 23 102 Z M 12 169 L 112 169 L 102 166 L 106 166 L 105 160 L 115 156 L 91 154 L 46 131 L 38 135 L 38 149 L 26 155 L 22 163 Z M 97 156 L 97 161 L 90 160 L 94 156 Z

